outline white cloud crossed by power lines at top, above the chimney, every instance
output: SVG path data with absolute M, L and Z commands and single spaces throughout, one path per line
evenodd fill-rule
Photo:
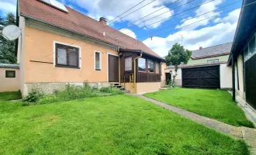
M 134 5 L 138 4 L 137 0 L 130 0 L 130 1 L 119 1 L 119 0 L 65 0 L 65 2 L 67 3 L 67 1 L 70 2 L 74 2 L 76 4 L 78 4 L 81 8 L 88 10 L 88 15 L 90 17 L 92 17 L 93 19 L 99 20 L 99 18 L 101 16 L 105 17 L 108 21 L 110 21 L 111 19 L 114 19 L 117 15 L 122 14 L 123 12 L 125 12 L 127 9 L 132 8 Z M 181 2 L 185 2 L 186 0 L 182 0 Z M 140 5 L 137 5 L 136 7 L 133 7 L 133 9 L 131 9 L 129 12 L 126 12 L 124 15 L 129 14 L 130 12 L 135 11 L 136 9 L 139 9 L 140 7 L 147 5 L 147 3 L 152 2 L 150 0 L 145 0 L 144 2 L 142 2 Z M 139 22 L 135 23 L 137 26 L 143 27 L 145 25 L 151 24 L 153 22 L 159 21 L 161 19 L 165 19 L 170 17 L 174 12 L 170 9 L 168 9 L 167 7 L 164 6 L 164 4 L 168 4 L 171 2 L 175 2 L 175 0 L 157 0 L 154 1 L 152 3 L 150 3 L 149 5 L 145 6 L 142 9 L 139 9 L 137 12 L 134 12 L 128 16 L 126 16 L 123 19 L 120 19 L 123 15 L 121 15 L 119 17 L 119 22 L 134 22 L 137 19 L 140 19 L 142 17 L 144 17 L 145 15 L 150 14 L 151 12 L 154 12 L 158 9 L 161 9 L 164 7 L 164 9 L 161 9 L 158 12 L 153 13 L 152 15 L 148 15 L 146 18 L 140 20 L 139 22 L 142 22 L 139 24 Z M 114 7 L 113 7 L 114 6 Z M 159 15 L 163 12 L 163 15 Z M 157 17 L 155 17 L 154 19 L 150 19 L 155 15 L 159 15 Z M 150 19 L 146 22 L 143 22 L 144 20 Z M 151 26 L 149 26 L 150 28 L 156 28 L 158 26 L 161 25 L 162 22 L 157 22 Z

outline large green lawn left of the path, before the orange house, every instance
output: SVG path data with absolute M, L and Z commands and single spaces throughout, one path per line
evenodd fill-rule
M 5 99 L 0 154 L 249 154 L 244 141 L 130 95 L 26 107 Z

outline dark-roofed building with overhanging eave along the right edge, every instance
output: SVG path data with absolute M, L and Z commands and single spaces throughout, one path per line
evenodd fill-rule
M 256 3 L 244 0 L 227 65 L 233 68 L 233 96 L 256 109 Z M 251 4 L 251 5 L 248 5 Z

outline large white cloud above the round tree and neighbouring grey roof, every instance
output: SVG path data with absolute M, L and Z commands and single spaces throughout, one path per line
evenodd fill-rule
M 153 37 L 153 40 L 148 38 L 144 40 L 144 43 L 161 57 L 164 57 L 168 54 L 168 50 L 171 49 L 173 44 L 181 43 L 181 34 L 185 37 L 183 39 L 183 45 L 189 50 L 197 50 L 199 47 L 211 47 L 220 43 L 232 42 L 237 28 L 239 12 L 239 10 L 230 12 L 226 17 L 220 19 L 220 21 L 225 22 L 218 23 L 214 26 L 196 30 L 182 29 L 166 38 Z

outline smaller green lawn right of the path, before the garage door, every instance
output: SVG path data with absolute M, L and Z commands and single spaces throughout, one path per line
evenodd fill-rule
M 227 91 L 175 88 L 145 94 L 149 98 L 184 108 L 233 126 L 253 127 Z

